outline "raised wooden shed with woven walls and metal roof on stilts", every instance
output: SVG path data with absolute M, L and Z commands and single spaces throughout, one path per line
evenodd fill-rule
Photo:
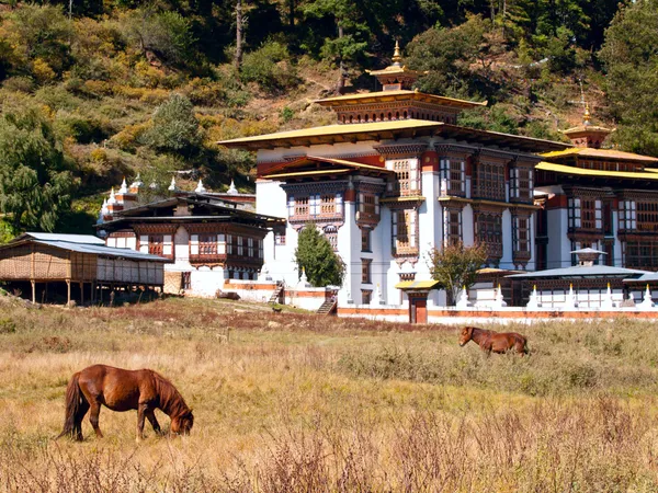
M 95 301 L 103 287 L 160 288 L 164 284 L 167 259 L 129 249 L 105 246 L 103 240 L 84 234 L 24 233 L 0 246 L 0 280 L 29 282 L 32 300 L 36 285 L 44 289 L 53 283 L 66 283 L 71 300 L 71 284 L 79 285 Z

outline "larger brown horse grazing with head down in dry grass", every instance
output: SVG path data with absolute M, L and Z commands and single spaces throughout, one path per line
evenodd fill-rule
M 154 370 L 126 370 L 105 365 L 93 365 L 71 377 L 66 388 L 66 414 L 64 431 L 82 440 L 82 419 L 91 411 L 89 421 L 99 438 L 101 404 L 112 411 L 137 410 L 137 442 L 144 437 L 144 419 L 148 419 L 156 433 L 160 425 L 155 410 L 159 409 L 171 417 L 171 434 L 189 434 L 194 424 L 192 410 L 188 408 L 175 387 Z

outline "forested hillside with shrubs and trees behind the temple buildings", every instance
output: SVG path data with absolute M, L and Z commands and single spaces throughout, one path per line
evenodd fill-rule
M 614 145 L 658 156 L 658 0 L 0 1 L 0 237 L 89 228 L 140 173 L 252 190 L 222 139 L 329 124 L 314 99 L 368 68 L 489 101 L 461 124 L 564 139 L 581 94 Z

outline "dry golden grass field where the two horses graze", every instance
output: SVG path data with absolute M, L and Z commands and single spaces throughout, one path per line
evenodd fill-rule
M 229 330 L 230 329 L 230 330 Z M 658 325 L 514 326 L 487 358 L 456 329 L 272 313 L 228 301 L 0 303 L 0 492 L 658 490 Z M 53 440 L 70 376 L 152 368 L 194 409 L 189 437 L 101 411 Z M 158 414 L 168 427 L 169 420 Z

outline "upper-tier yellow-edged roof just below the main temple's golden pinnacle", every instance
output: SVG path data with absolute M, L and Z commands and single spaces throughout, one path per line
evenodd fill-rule
M 394 101 L 418 101 L 421 103 L 434 104 L 436 106 L 451 106 L 455 108 L 470 108 L 486 106 L 488 104 L 487 101 L 479 103 L 476 101 L 457 100 L 455 98 L 426 94 L 423 92 L 419 92 L 418 90 L 411 91 L 406 89 L 326 98 L 322 100 L 316 100 L 315 103 L 319 104 L 320 106 L 339 107 L 371 103 L 390 103 Z

